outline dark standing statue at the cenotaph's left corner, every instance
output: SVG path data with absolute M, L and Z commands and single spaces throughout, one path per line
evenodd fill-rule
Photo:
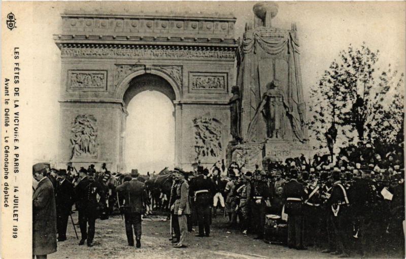
M 241 141 L 241 100 L 240 100 L 240 90 L 238 86 L 234 85 L 231 88 L 231 93 L 233 94 L 228 104 L 230 105 L 230 134 L 233 141 Z

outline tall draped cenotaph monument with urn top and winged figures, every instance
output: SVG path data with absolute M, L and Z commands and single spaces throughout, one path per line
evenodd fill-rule
M 235 132 L 243 144 L 234 138 L 227 152 L 229 161 L 251 161 L 249 168 L 265 156 L 285 159 L 309 150 L 296 26 L 272 26 L 276 3 L 258 3 L 253 11 L 254 23 L 246 25 L 237 55 L 241 121 Z

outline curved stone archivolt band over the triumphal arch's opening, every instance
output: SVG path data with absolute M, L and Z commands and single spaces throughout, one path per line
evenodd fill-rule
M 180 87 L 178 84 L 175 82 L 175 80 L 171 77 L 168 76 L 166 73 L 160 71 L 159 69 L 155 68 L 146 68 L 146 69 L 141 69 L 135 72 L 132 72 L 128 74 L 118 85 L 115 91 L 115 99 L 118 100 L 123 100 L 124 94 L 127 91 L 128 87 L 130 87 L 130 82 L 132 79 L 144 75 L 144 74 L 152 74 L 159 76 L 163 79 L 165 79 L 169 85 L 171 85 L 172 89 L 175 92 L 175 100 L 174 101 L 179 101 L 181 100 L 181 91 Z

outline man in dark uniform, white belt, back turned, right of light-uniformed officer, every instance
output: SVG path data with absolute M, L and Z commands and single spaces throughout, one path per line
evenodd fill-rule
M 196 206 L 197 223 L 199 234 L 196 237 L 210 236 L 210 214 L 211 203 L 213 201 L 214 185 L 213 182 L 204 175 L 204 169 L 197 167 L 198 175 L 190 182 L 190 191 L 194 197 Z

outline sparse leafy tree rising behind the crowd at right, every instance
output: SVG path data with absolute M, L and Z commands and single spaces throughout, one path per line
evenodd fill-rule
M 371 51 L 365 43 L 360 48 L 350 45 L 339 53 L 338 60 L 330 64 L 312 89 L 310 128 L 320 148 L 336 142 L 329 139 L 328 129 L 331 130 L 332 125 L 344 139 L 343 145 L 354 141 L 354 132 L 359 140 L 386 140 L 396 136 L 403 118 L 404 75 L 392 71 L 390 65 L 380 72 L 378 60 L 379 50 Z M 389 103 L 391 89 L 398 95 L 395 93 L 388 106 L 385 104 Z

